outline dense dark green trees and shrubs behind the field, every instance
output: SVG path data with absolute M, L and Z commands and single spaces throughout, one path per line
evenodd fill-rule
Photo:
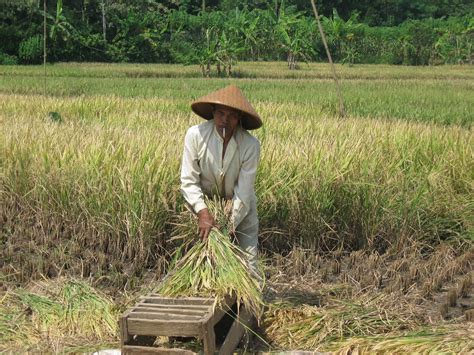
M 43 59 L 42 1 L 2 1 L 0 63 Z M 212 65 L 326 60 L 309 1 L 47 1 L 48 61 Z M 338 62 L 472 63 L 473 5 L 458 0 L 319 4 Z

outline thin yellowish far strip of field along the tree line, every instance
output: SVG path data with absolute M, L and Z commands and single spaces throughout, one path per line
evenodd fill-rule
M 344 79 L 466 79 L 474 78 L 469 65 L 441 66 L 395 66 L 357 64 L 354 66 L 336 64 L 338 75 Z M 48 64 L 48 76 L 70 77 L 131 77 L 200 78 L 197 65 L 179 64 L 110 64 L 110 63 L 57 63 Z M 43 66 L 1 66 L 2 75 L 43 76 Z M 215 75 L 215 72 L 213 73 Z M 241 62 L 234 68 L 237 77 L 263 79 L 332 79 L 331 68 L 326 63 L 301 64 L 299 70 L 288 70 L 284 62 Z

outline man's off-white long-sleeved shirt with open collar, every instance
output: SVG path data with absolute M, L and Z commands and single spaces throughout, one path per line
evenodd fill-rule
M 237 228 L 258 223 L 255 176 L 260 143 L 238 126 L 222 159 L 224 140 L 214 120 L 191 127 L 184 140 L 181 192 L 194 212 L 206 208 L 204 194 L 232 199 L 232 219 Z M 243 227 L 243 226 L 241 226 Z

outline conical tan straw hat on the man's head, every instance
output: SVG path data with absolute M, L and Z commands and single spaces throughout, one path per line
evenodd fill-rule
M 213 104 L 239 110 L 242 114 L 242 127 L 247 130 L 260 128 L 263 124 L 258 113 L 235 85 L 226 86 L 197 99 L 191 104 L 191 109 L 202 118 L 210 120 L 213 118 Z

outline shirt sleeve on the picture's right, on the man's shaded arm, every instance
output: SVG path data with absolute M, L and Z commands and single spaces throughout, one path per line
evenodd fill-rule
M 260 159 L 260 143 L 257 139 L 249 147 L 240 167 L 237 184 L 234 186 L 232 221 L 234 228 L 248 215 L 251 202 L 255 200 L 255 177 Z

